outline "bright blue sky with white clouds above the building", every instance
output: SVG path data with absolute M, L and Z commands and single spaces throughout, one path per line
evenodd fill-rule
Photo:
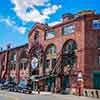
M 100 13 L 100 0 L 0 0 L 0 48 L 23 45 L 36 22 L 55 25 L 64 13 Z

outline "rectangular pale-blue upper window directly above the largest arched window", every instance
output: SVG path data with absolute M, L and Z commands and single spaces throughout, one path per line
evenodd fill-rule
M 65 25 L 63 27 L 63 34 L 64 35 L 67 35 L 67 34 L 70 34 L 73 32 L 75 32 L 75 25 Z

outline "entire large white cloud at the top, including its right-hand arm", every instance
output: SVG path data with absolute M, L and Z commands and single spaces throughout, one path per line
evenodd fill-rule
M 49 19 L 50 14 L 56 13 L 56 11 L 61 8 L 61 5 L 53 5 L 51 6 L 50 0 L 11 0 L 14 4 L 13 10 L 16 15 L 24 22 L 45 22 Z M 44 6 L 42 12 L 36 8 L 36 6 Z M 27 11 L 27 9 L 31 9 Z

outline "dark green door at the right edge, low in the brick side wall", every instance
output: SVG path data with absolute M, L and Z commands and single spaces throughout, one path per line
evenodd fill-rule
M 100 89 L 100 72 L 93 74 L 93 85 L 95 89 Z

